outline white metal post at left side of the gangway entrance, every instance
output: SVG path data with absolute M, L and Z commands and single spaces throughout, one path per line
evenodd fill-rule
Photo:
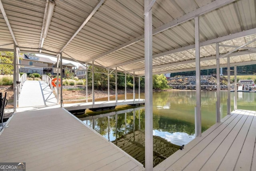
M 14 45 L 14 58 L 13 58 L 13 111 L 16 111 L 17 108 L 17 58 L 18 58 L 18 54 L 17 54 L 17 46 Z

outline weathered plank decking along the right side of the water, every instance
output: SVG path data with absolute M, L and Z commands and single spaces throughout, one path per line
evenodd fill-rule
M 256 111 L 236 110 L 154 171 L 255 171 Z

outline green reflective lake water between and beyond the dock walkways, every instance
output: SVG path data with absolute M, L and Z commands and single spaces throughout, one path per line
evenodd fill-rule
M 221 117 L 227 113 L 226 91 L 221 92 Z M 231 110 L 234 92 L 231 92 Z M 118 96 L 118 99 L 124 97 Z M 140 98 L 144 98 L 142 94 Z M 238 92 L 238 109 L 256 111 L 256 93 Z M 195 138 L 195 91 L 153 93 L 154 166 Z M 202 132 L 216 122 L 216 92 L 201 92 Z M 108 141 L 144 164 L 144 107 L 80 118 Z

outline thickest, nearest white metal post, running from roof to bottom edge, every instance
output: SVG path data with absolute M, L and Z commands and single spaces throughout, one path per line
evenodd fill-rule
M 144 0 L 144 11 L 148 9 L 149 4 L 150 0 Z M 144 13 L 145 171 L 153 171 L 152 8 L 149 9 Z

